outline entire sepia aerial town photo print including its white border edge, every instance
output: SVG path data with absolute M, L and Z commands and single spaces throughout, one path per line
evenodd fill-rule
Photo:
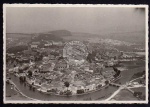
M 4 100 L 146 101 L 146 7 L 5 5 Z

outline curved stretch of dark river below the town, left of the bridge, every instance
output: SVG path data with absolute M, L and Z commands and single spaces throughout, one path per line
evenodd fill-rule
M 58 101 L 58 100 L 73 100 L 73 101 L 84 101 L 84 99 L 87 98 L 91 98 L 92 100 L 94 99 L 98 99 L 100 97 L 105 97 L 107 95 L 110 95 L 113 93 L 113 91 L 115 91 L 117 88 L 116 87 L 112 87 L 112 86 L 108 86 L 105 89 L 102 90 L 98 90 L 95 92 L 91 92 L 89 94 L 83 94 L 83 95 L 79 95 L 79 96 L 57 96 L 57 95 L 47 95 L 47 94 L 43 94 L 39 91 L 31 91 L 29 90 L 29 87 L 24 87 L 24 85 L 21 85 L 19 82 L 19 79 L 15 76 L 11 76 L 11 80 L 16 84 L 16 86 L 18 87 L 18 89 L 20 89 L 20 91 L 33 99 L 37 99 L 37 100 L 44 100 L 44 101 Z

